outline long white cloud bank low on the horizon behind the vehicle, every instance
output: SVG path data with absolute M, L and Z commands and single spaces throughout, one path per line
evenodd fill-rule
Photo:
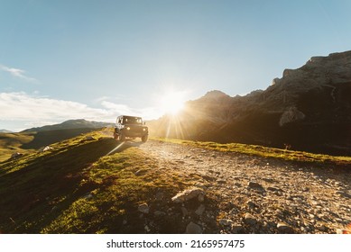
M 155 108 L 133 109 L 125 104 L 103 101 L 102 108 L 89 107 L 84 103 L 52 99 L 26 93 L 0 93 L 1 121 L 21 121 L 24 130 L 28 126 L 42 126 L 69 119 L 89 121 L 115 121 L 120 114 L 135 114 L 144 119 L 155 119 L 160 114 Z M 50 123 L 49 123 L 50 122 Z M 16 126 L 16 129 L 19 129 Z M 9 129 L 11 130 L 11 129 Z

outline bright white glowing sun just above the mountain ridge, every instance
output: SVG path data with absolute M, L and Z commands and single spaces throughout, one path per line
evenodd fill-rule
M 185 95 L 182 92 L 168 92 L 162 95 L 161 109 L 164 113 L 177 114 L 184 108 Z

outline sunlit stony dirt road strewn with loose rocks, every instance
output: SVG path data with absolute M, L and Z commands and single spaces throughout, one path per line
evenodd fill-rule
M 213 206 L 199 207 L 194 222 L 201 229 L 217 221 L 221 233 L 336 233 L 351 222 L 351 171 L 346 169 L 157 140 L 136 146 L 157 159 L 160 172 L 197 175 L 194 185 L 217 195 L 216 214 Z M 185 207 L 184 216 L 190 215 Z

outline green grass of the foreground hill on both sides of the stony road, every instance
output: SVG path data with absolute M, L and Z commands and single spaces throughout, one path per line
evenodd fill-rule
M 186 221 L 171 197 L 196 184 L 199 177 L 167 174 L 158 160 L 130 145 L 106 156 L 118 142 L 97 131 L 88 135 L 94 139 L 82 135 L 0 164 L 0 232 L 143 233 L 146 224 L 152 232 L 183 232 Z M 263 157 L 350 164 L 349 157 L 312 158 L 308 153 L 257 146 L 162 140 Z M 216 197 L 207 195 L 207 205 L 215 206 Z M 151 212 L 173 211 L 155 219 L 141 218 L 137 207 L 142 202 Z

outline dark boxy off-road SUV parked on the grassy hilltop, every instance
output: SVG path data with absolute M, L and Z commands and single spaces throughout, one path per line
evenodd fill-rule
M 126 138 L 142 138 L 142 141 L 147 141 L 149 130 L 141 117 L 120 115 L 115 121 L 114 138 L 124 141 Z

